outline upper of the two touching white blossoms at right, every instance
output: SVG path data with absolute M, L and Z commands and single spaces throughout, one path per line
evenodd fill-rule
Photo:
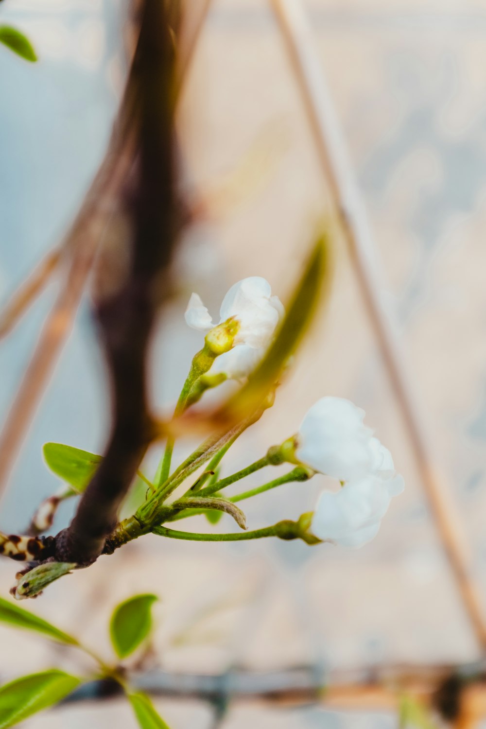
M 322 397 L 307 410 L 299 428 L 297 459 L 340 481 L 367 475 L 380 464 L 381 453 L 371 443 L 376 439 L 363 418 L 364 410 L 349 400 Z

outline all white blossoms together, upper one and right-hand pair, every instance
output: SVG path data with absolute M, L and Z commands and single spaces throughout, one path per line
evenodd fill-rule
M 264 278 L 239 281 L 224 297 L 216 325 L 200 297 L 192 294 L 187 324 L 203 332 L 226 327 L 230 338 L 227 351 L 216 356 L 205 373 L 206 381 L 243 381 L 251 375 L 283 317 L 283 306 L 271 293 Z M 364 410 L 349 400 L 323 397 L 308 410 L 293 438 L 280 449 L 270 449 L 270 462 L 291 461 L 306 467 L 310 475 L 318 472 L 340 481 L 340 490 L 324 491 L 315 507 L 310 531 L 321 541 L 348 547 L 366 544 L 380 529 L 392 496 L 403 491 L 404 481 L 390 451 L 363 421 Z

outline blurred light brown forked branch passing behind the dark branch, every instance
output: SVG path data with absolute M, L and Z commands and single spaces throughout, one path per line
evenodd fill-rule
M 190 34 L 186 34 L 181 45 L 177 67 L 177 88 L 180 90 L 182 79 L 189 72 L 195 46 L 208 11 L 209 3 L 205 2 L 195 16 L 195 26 Z M 184 31 L 184 23 L 181 28 Z M 128 84 L 128 88 L 130 85 Z M 52 311 L 42 328 L 39 341 L 34 349 L 31 362 L 23 375 L 20 387 L 9 410 L 9 415 L 0 432 L 0 493 L 15 463 L 17 453 L 23 443 L 28 427 L 44 394 L 52 375 L 55 363 L 66 343 L 71 331 L 77 308 L 85 289 L 87 277 L 93 268 L 103 231 L 109 217 L 114 212 L 119 198 L 119 190 L 133 164 L 133 141 L 125 135 L 130 94 L 120 106 L 114 131 L 111 135 L 109 149 L 95 176 L 90 190 L 82 204 L 74 225 L 66 235 L 58 249 L 47 255 L 38 269 L 34 270 L 19 291 L 12 297 L 1 315 L 0 324 L 7 333 L 18 321 L 44 285 L 51 266 L 60 265 L 59 257 L 64 257 L 66 273 L 61 289 Z

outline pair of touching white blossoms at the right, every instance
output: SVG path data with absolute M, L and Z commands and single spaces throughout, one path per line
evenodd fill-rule
M 361 547 L 376 536 L 392 496 L 404 480 L 388 448 L 363 423 L 364 410 L 323 397 L 307 411 L 295 437 L 295 456 L 315 471 L 344 482 L 318 499 L 312 531 L 319 539 Z

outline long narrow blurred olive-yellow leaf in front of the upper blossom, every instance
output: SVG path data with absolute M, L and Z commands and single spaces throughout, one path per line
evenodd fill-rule
M 310 324 L 324 282 L 329 284 L 331 268 L 329 233 L 323 231 L 313 245 L 305 271 L 294 290 L 272 346 L 248 383 L 223 406 L 219 413 L 219 418 L 223 421 L 232 424 L 248 417 L 278 381 L 289 357 L 294 354 Z

